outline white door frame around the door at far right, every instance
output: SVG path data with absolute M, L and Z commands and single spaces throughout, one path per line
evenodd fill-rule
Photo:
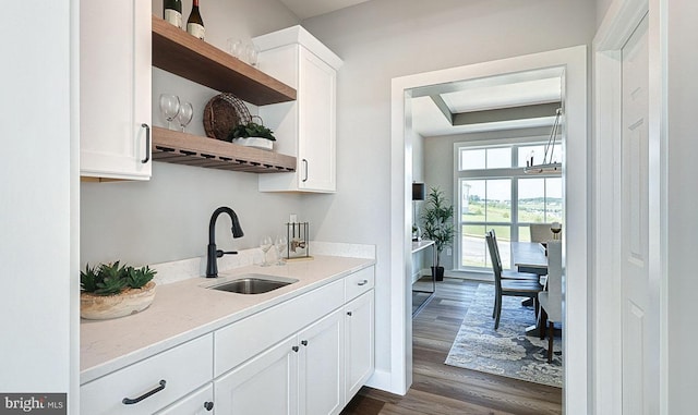
M 658 350 L 660 414 L 667 413 L 666 333 L 666 58 L 665 0 L 615 0 L 597 32 L 592 46 L 594 205 L 591 223 L 592 289 L 595 298 L 592 327 L 593 413 L 621 414 L 622 395 L 622 286 L 621 286 L 621 50 L 642 17 L 649 13 L 649 270 L 650 301 L 659 303 Z M 652 179 L 653 178 L 653 179 Z M 605 215 L 602 212 L 611 212 Z M 611 241 L 611 243 L 609 243 Z M 658 326 L 658 327 L 654 327 Z

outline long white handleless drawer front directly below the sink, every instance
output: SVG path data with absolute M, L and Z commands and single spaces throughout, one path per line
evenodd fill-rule
M 338 280 L 216 330 L 215 377 L 341 307 L 344 291 Z

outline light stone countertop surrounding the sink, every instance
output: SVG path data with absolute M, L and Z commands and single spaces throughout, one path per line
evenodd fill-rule
M 369 258 L 315 256 L 286 266 L 234 268 L 219 272 L 218 279 L 198 277 L 158 285 L 153 304 L 139 314 L 112 320 L 81 319 L 81 385 L 374 264 L 375 259 Z M 299 281 L 254 295 L 205 288 L 244 273 Z

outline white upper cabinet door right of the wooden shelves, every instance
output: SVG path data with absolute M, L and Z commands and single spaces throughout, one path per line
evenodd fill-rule
M 299 64 L 298 186 L 305 191 L 335 192 L 336 71 L 302 47 Z

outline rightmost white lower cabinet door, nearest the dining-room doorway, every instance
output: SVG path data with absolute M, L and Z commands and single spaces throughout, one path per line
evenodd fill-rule
M 345 306 L 347 350 L 347 402 L 361 389 L 374 369 L 373 290 Z

